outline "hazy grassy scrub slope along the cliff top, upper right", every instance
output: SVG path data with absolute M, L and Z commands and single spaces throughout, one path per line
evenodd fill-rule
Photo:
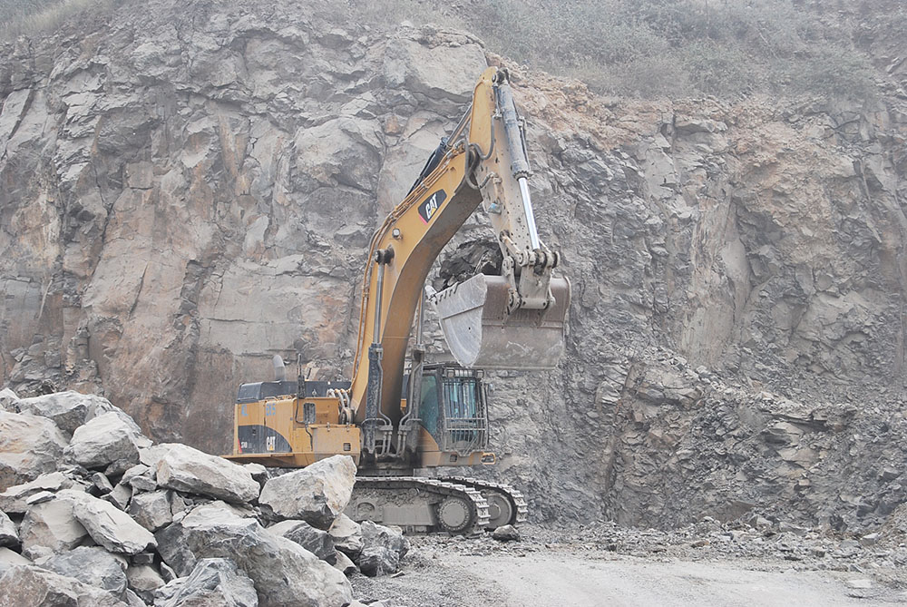
M 854 47 L 850 15 L 839 15 L 834 0 L 485 0 L 453 8 L 436 0 L 343 4 L 369 22 L 409 19 L 463 27 L 495 53 L 579 78 L 600 93 L 865 98 L 877 88 L 869 57 Z M 903 27 L 907 11 L 894 5 L 900 7 L 877 6 L 875 13 Z

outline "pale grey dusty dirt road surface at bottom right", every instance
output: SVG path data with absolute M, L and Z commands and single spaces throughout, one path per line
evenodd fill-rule
M 472 552 L 418 543 L 403 574 L 356 576 L 360 600 L 385 607 L 837 607 L 907 604 L 861 572 L 795 571 L 785 560 L 684 560 L 561 548 Z

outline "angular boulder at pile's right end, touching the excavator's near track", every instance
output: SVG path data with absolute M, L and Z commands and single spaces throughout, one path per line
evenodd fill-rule
M 349 455 L 332 455 L 265 483 L 258 504 L 277 518 L 301 519 L 328 529 L 349 503 L 356 464 Z

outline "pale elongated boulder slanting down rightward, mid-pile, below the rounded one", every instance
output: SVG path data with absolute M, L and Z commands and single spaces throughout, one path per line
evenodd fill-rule
M 64 489 L 58 496 L 73 504 L 76 520 L 112 553 L 136 554 L 157 545 L 150 531 L 110 502 L 73 489 Z

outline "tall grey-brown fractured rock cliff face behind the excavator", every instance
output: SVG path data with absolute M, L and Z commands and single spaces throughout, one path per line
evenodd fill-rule
M 872 102 L 629 101 L 279 1 L 124 2 L 0 43 L 5 383 L 102 391 L 216 453 L 273 354 L 348 373 L 371 231 L 490 63 L 574 302 L 558 370 L 493 377 L 491 474 L 542 516 L 633 524 L 902 503 L 903 62 Z

